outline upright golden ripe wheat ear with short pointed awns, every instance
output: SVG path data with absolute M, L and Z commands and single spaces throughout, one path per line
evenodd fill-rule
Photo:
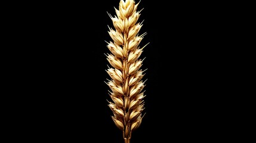
M 106 70 L 111 77 L 106 82 L 111 89 L 109 95 L 112 99 L 108 105 L 113 111 L 113 122 L 123 132 L 125 143 L 130 142 L 132 131 L 141 125 L 143 98 L 146 96 L 143 91 L 146 80 L 142 80 L 145 70 L 140 69 L 143 63 L 140 55 L 146 45 L 139 46 L 146 32 L 138 34 L 143 25 L 138 23 L 141 12 L 137 11 L 139 3 L 121 0 L 119 10 L 115 8 L 115 17 L 109 14 L 115 29 L 109 27 L 113 42 L 107 42 L 111 52 L 106 55 L 107 61 L 112 66 Z

